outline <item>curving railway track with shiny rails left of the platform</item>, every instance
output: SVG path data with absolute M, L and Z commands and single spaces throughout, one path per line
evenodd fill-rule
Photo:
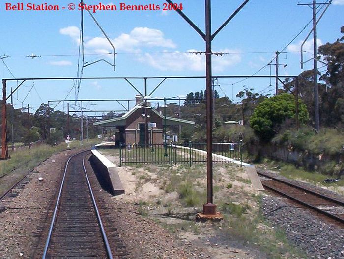
M 73 155 L 66 163 L 43 259 L 113 258 L 85 168 L 88 154 Z

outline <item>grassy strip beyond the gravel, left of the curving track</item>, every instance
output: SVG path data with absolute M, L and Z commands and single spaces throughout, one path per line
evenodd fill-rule
M 84 141 L 83 148 L 90 147 L 94 143 L 99 143 L 98 139 Z M 80 141 L 70 142 L 70 148 L 79 148 Z M 46 144 L 33 146 L 30 149 L 9 150 L 10 159 L 0 162 L 0 194 L 5 192 L 15 182 L 33 170 L 38 164 L 48 159 L 50 156 L 60 151 L 66 150 L 67 144 L 61 143 L 57 146 L 49 146 Z

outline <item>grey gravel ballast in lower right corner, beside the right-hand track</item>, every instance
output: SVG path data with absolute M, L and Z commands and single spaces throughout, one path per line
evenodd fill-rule
M 344 259 L 344 229 L 322 222 L 308 210 L 297 208 L 283 198 L 262 198 L 263 214 L 282 228 L 287 238 L 309 258 Z

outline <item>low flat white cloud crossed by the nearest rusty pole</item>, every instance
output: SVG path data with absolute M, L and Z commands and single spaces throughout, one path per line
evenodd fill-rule
M 187 52 L 196 52 L 196 50 L 188 50 Z M 214 51 L 216 52 L 216 51 Z M 220 50 L 219 52 L 237 52 L 229 49 Z M 142 63 L 147 63 L 150 66 L 167 71 L 204 71 L 205 70 L 205 55 L 204 54 L 189 54 L 182 52 L 164 53 L 164 54 L 140 54 L 138 60 Z M 222 72 L 225 68 L 237 64 L 241 61 L 239 54 L 229 54 L 223 56 L 213 56 L 213 70 L 214 72 Z

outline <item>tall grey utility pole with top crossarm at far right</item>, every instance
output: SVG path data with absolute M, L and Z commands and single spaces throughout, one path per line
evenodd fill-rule
M 313 10 L 313 74 L 314 74 L 314 124 L 315 130 L 319 131 L 320 129 L 320 120 L 319 120 L 319 91 L 318 91 L 318 59 L 317 59 L 317 33 L 316 33 L 316 6 L 317 5 L 329 5 L 329 3 L 316 3 L 316 0 L 313 3 L 299 3 L 298 5 L 307 5 Z

